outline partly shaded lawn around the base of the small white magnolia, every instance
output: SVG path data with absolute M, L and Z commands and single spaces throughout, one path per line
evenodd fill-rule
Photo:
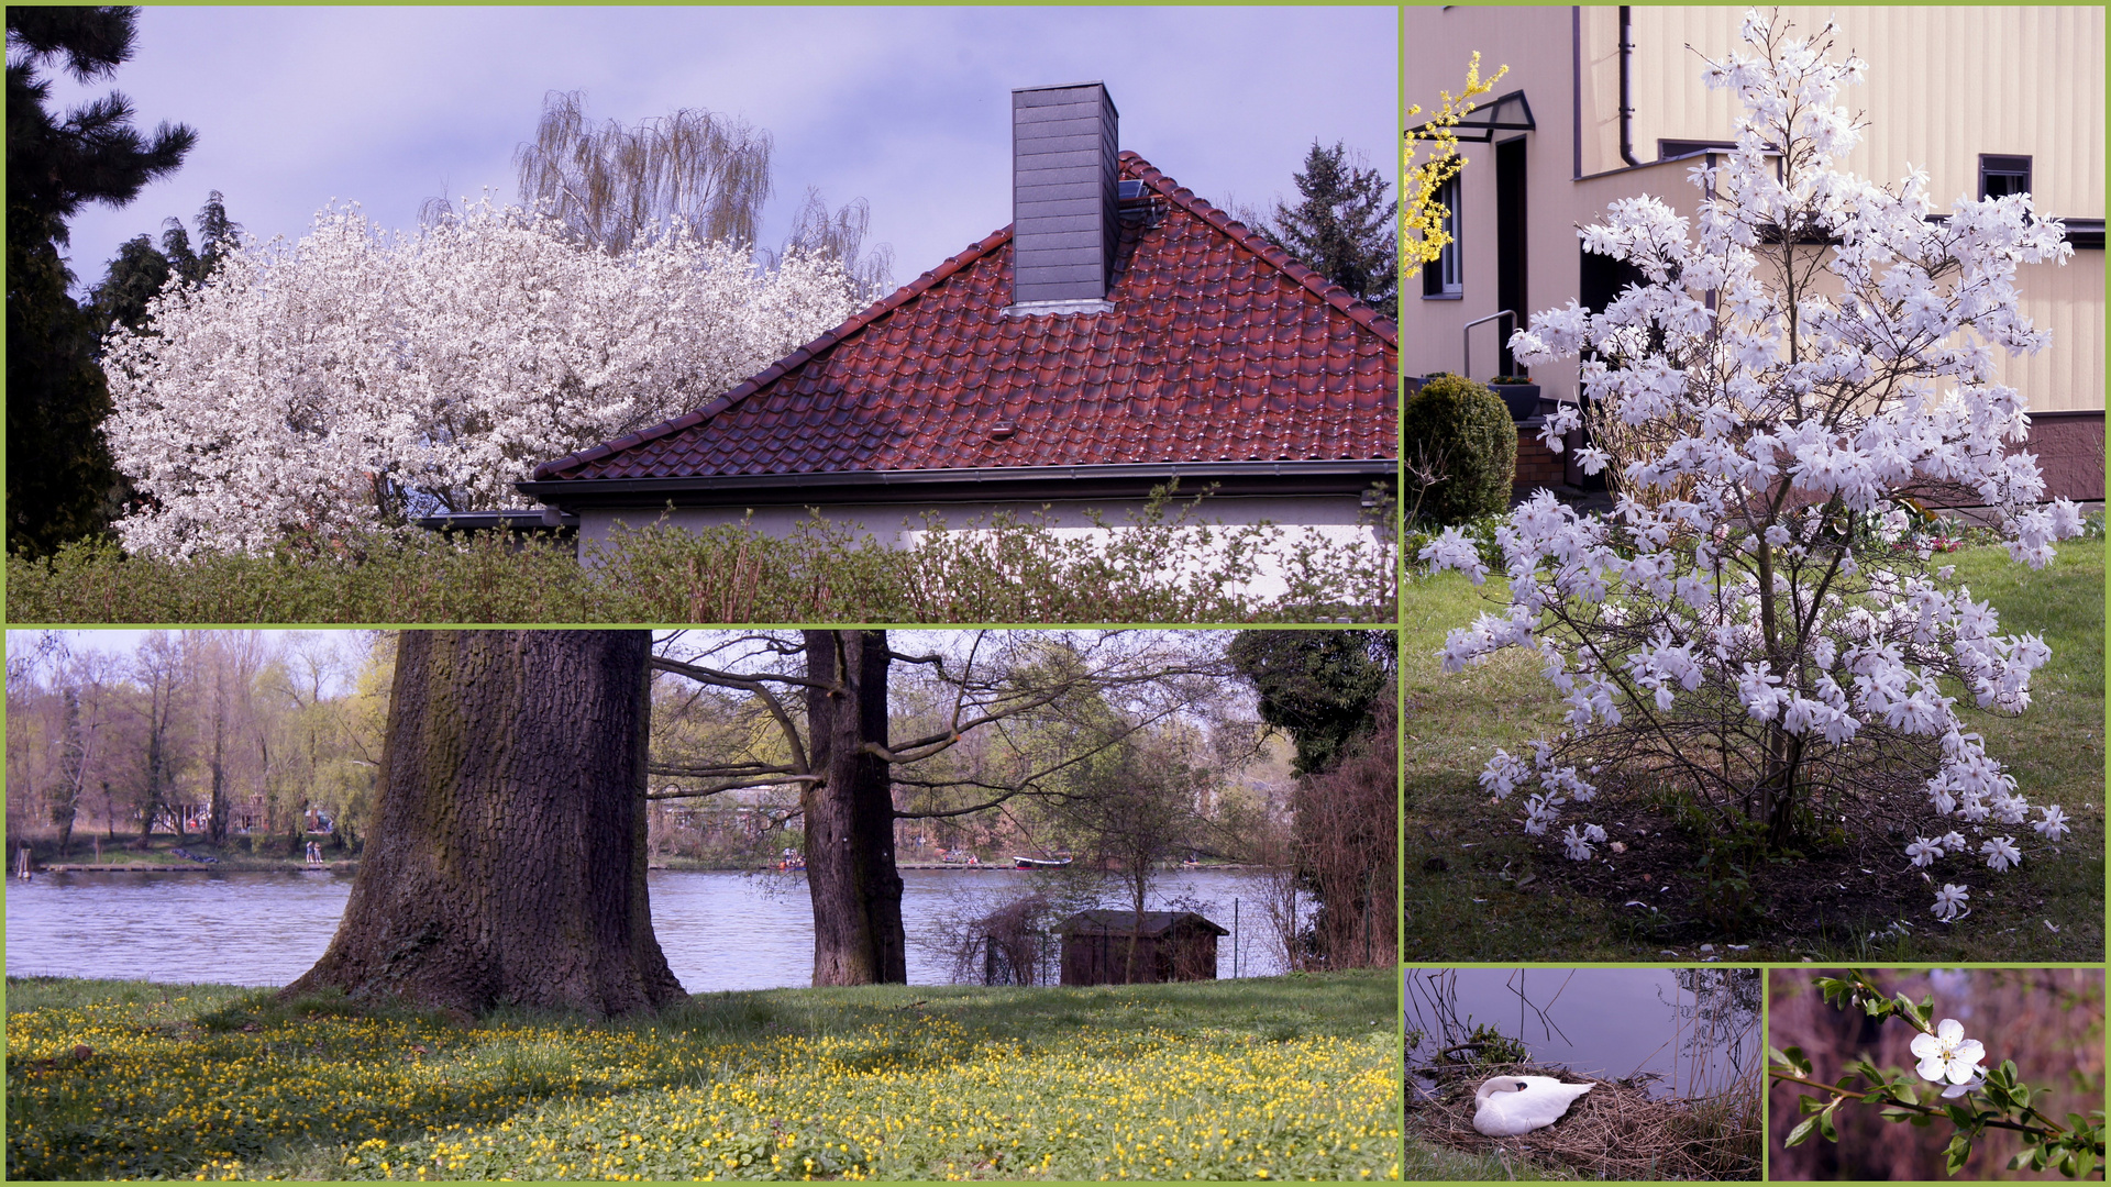
M 1539 663 L 1522 653 L 1442 672 L 1435 653 L 1444 634 L 1503 598 L 1497 579 L 1476 589 L 1459 574 L 1442 574 L 1410 585 L 1404 598 L 1404 959 L 1655 961 L 1693 959 L 1710 944 L 1731 961 L 2100 961 L 2105 543 L 2065 543 L 2039 572 L 1991 547 L 1951 560 L 1974 598 L 2001 613 L 2003 634 L 2033 632 L 2052 648 L 2052 663 L 2033 678 L 2027 714 L 1967 712 L 1965 720 L 2016 775 L 2018 792 L 2033 805 L 2058 803 L 2075 826 L 2052 847 L 2058 853 L 2046 851 L 2027 826 L 2018 830 L 2027 860 L 2008 874 L 1976 858 L 1940 860 L 1929 870 L 1936 883 L 1972 885 L 1970 919 L 1938 923 L 1927 910 L 1934 896 L 1902 851 L 1877 853 L 1877 862 L 1818 851 L 1807 862 L 1756 870 L 1758 921 L 1746 934 L 1725 934 L 1699 919 L 1699 874 L 1691 868 L 1697 845 L 1670 822 L 1619 822 L 1655 834 L 1619 866 L 1568 862 L 1552 841 L 1533 841 L 1516 824 L 1516 798 L 1490 803 L 1476 775 L 1495 748 L 1518 754 L 1533 737 L 1554 733 L 1560 701 Z M 1630 811 L 1638 809 L 1619 805 L 1619 813 Z M 1750 948 L 1731 950 L 1727 942 Z

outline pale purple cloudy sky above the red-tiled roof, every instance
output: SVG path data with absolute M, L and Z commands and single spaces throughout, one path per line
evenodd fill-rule
M 429 196 L 515 201 L 513 148 L 547 91 L 589 118 L 676 108 L 775 137 L 783 239 L 806 186 L 863 196 L 908 281 L 1011 222 L 1009 91 L 1104 80 L 1121 144 L 1218 205 L 1267 207 L 1313 139 L 1370 161 L 1397 135 L 1397 11 L 1364 8 L 158 8 L 112 87 L 139 123 L 198 146 L 125 209 L 74 220 L 80 285 L 118 243 L 186 224 L 207 190 L 260 239 L 298 239 L 323 203 L 410 228 Z

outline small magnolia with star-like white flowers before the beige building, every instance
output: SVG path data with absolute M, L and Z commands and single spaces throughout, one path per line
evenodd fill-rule
M 1691 171 L 1695 218 L 1623 199 L 1581 232 L 1647 283 L 1511 338 L 1528 365 L 1583 355 L 1585 397 L 1642 446 L 1579 454 L 1590 473 L 1617 467 L 1611 515 L 1539 492 L 1497 532 L 1509 606 L 1452 632 L 1444 665 L 1528 648 L 1568 714 L 1480 781 L 1524 790 L 1524 830 L 1575 860 L 1606 832 L 1562 830 L 1568 813 L 1649 788 L 1758 847 L 1847 828 L 1915 836 L 1915 866 L 2008 870 L 2018 836 L 2056 841 L 2065 813 L 2031 817 L 1957 705 L 2024 710 L 2050 653 L 1999 634 L 1913 528 L 1929 498 L 1986 507 L 2033 568 L 2081 530 L 2071 503 L 2041 505 L 2037 460 L 2012 450 L 2027 401 L 1997 382 L 1999 355 L 2048 342 L 2018 313 L 2018 264 L 2071 247 L 2029 194 L 1934 215 L 1921 173 L 1843 173 L 1860 133 L 1834 99 L 1864 65 L 1834 59 L 1830 25 L 1799 40 L 1754 13 L 1744 42 L 1706 65 L 1744 114 L 1727 163 Z M 1573 408 L 1549 416 L 1547 446 L 1575 425 Z M 1484 579 L 1461 530 L 1421 558 Z M 1934 912 L 1967 902 L 1959 874 Z

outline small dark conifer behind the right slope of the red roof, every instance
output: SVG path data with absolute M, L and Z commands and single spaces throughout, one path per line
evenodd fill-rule
M 1400 205 L 1385 196 L 1385 173 L 1366 169 L 1334 142 L 1313 142 L 1305 171 L 1294 173 L 1302 201 L 1275 203 L 1262 228 L 1275 245 L 1307 268 L 1349 289 L 1385 317 L 1400 317 Z

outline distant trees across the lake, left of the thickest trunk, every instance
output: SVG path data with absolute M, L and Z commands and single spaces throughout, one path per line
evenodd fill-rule
M 27 642 L 25 642 L 27 640 Z M 150 632 L 133 655 L 21 632 L 8 655 L 8 836 L 300 853 L 372 813 L 391 640 Z

